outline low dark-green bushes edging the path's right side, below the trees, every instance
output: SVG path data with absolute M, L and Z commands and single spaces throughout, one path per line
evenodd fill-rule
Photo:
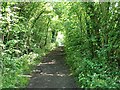
M 78 35 L 77 35 L 78 34 Z M 78 41 L 79 40 L 79 41 Z M 97 56 L 91 58 L 89 44 L 81 40 L 75 30 L 66 35 L 66 62 L 82 88 L 119 88 L 120 71 L 117 62 L 109 63 L 106 51 L 97 50 Z

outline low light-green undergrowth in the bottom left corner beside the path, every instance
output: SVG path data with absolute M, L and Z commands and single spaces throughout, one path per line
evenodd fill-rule
M 30 70 L 30 66 L 35 64 L 37 54 L 30 53 L 19 58 L 11 57 L 4 53 L 2 55 L 2 88 L 14 88 L 25 86 L 27 77 L 23 77 Z

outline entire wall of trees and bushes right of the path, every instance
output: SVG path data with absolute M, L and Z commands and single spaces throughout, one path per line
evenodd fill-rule
M 68 5 L 66 59 L 80 87 L 119 88 L 118 3 Z

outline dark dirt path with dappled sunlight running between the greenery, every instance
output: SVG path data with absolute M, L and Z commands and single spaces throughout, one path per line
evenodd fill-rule
M 76 88 L 64 60 L 62 47 L 50 52 L 34 70 L 28 88 Z

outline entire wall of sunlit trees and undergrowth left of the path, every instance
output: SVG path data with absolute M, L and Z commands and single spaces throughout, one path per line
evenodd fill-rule
M 0 3 L 0 87 L 25 87 L 29 78 L 24 74 L 53 48 L 50 13 L 46 3 Z

